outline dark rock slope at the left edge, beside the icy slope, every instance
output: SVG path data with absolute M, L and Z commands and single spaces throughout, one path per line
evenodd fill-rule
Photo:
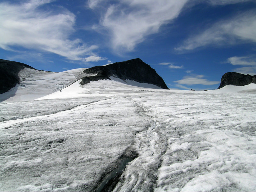
M 0 59 L 0 94 L 20 83 L 18 74 L 24 68 L 34 69 L 24 63 Z

